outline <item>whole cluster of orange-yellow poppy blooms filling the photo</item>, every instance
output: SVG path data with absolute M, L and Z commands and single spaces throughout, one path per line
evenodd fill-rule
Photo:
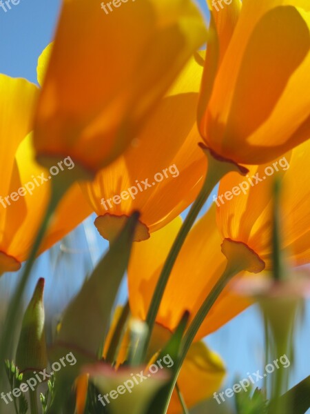
M 130 311 L 137 319 L 147 319 L 180 233 L 180 213 L 214 173 L 198 146 L 202 140 L 216 162 L 240 163 L 248 177 L 262 177 L 278 157 L 287 160 L 287 168 L 277 170 L 281 249 L 291 267 L 310 261 L 309 0 L 232 0 L 219 10 L 211 3 L 207 34 L 190 0 L 129 2 L 108 19 L 97 1 L 88 1 L 85 10 L 85 1 L 65 0 L 54 43 L 39 59 L 41 88 L 0 75 L 0 195 L 46 175 L 65 157 L 76 164 L 74 184 L 54 211 L 38 253 L 92 212 L 96 228 L 112 241 L 138 210 L 134 239 L 141 243 L 134 244 L 128 266 Z M 206 41 L 207 50 L 197 52 Z M 135 197 L 118 197 L 107 211 L 102 200 L 167 166 L 177 166 L 178 175 L 166 175 Z M 189 231 L 156 316 L 154 354 L 185 311 L 192 322 L 220 279 L 227 264 L 224 239 L 255 253 L 260 270 L 272 270 L 273 179 L 265 178 L 212 206 Z M 229 172 L 218 192 L 239 184 L 240 174 Z M 19 270 L 27 259 L 50 195 L 49 181 L 0 210 L 0 274 Z M 200 339 L 251 304 L 231 284 L 201 324 L 180 371 L 188 406 L 216 391 L 225 372 Z M 78 389 L 77 410 L 83 413 L 85 377 Z M 169 413 L 180 413 L 176 393 Z

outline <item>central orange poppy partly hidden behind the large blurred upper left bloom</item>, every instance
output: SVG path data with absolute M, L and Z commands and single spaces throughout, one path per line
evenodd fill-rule
M 141 213 L 136 241 L 147 239 L 198 195 L 207 170 L 196 127 L 201 75 L 201 66 L 189 61 L 134 146 L 101 170 L 94 183 L 83 185 L 106 239 L 114 237 L 132 210 Z

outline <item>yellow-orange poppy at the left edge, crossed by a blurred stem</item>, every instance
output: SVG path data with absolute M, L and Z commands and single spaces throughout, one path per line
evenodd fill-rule
M 19 270 L 27 259 L 50 198 L 51 186 L 46 182 L 50 172 L 34 161 L 31 144 L 31 121 L 38 95 L 39 88 L 33 83 L 0 75 L 0 275 Z M 67 161 L 62 161 L 63 170 L 69 165 Z M 65 174 L 65 170 L 56 168 L 59 174 Z M 81 189 L 73 186 L 59 204 L 39 253 L 90 213 Z

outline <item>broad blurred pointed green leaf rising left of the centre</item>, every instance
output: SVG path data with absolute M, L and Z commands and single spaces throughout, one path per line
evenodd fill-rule
M 130 258 L 138 215 L 128 219 L 107 255 L 65 310 L 57 342 L 96 357 L 110 324 L 118 288 Z

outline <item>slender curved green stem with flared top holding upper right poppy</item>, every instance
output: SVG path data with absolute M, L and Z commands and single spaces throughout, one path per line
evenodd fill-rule
M 227 174 L 227 172 L 236 170 L 242 173 L 247 172 L 247 170 L 242 170 L 242 168 L 240 168 L 233 162 L 218 157 L 216 154 L 214 154 L 214 152 L 211 152 L 208 148 L 205 148 L 204 146 L 200 147 L 203 148 L 208 159 L 207 176 L 205 177 L 203 187 L 201 188 L 197 199 L 194 201 L 192 208 L 189 210 L 189 213 L 185 221 L 183 222 L 182 227 L 180 228 L 180 231 L 174 241 L 174 244 L 172 245 L 172 248 L 169 251 L 169 255 L 163 266 L 161 275 L 159 276 L 146 318 L 148 333 L 147 339 L 145 341 L 145 349 L 142 355 L 143 359 L 145 359 L 145 355 L 147 354 L 149 340 L 152 336 L 156 315 L 158 313 L 161 300 L 163 299 L 163 294 L 165 293 L 165 288 L 167 286 L 169 275 L 172 271 L 172 268 L 174 267 L 174 264 L 178 257 L 178 253 L 180 253 L 180 249 L 182 248 L 185 242 L 187 234 L 189 233 L 189 230 L 192 228 L 194 221 L 196 220 L 201 208 L 203 208 L 205 201 L 207 201 L 207 198 L 209 197 L 211 191 L 216 186 L 218 181 L 220 181 L 220 179 L 223 178 Z

